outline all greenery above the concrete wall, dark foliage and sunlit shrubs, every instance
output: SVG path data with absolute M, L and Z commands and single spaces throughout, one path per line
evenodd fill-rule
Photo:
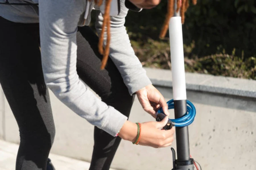
M 169 35 L 158 36 L 167 13 L 166 0 L 150 10 L 129 11 L 126 27 L 143 66 L 171 69 Z M 256 1 L 198 0 L 185 13 L 185 69 L 256 79 Z

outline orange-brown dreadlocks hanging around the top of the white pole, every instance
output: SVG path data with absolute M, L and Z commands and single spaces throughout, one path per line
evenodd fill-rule
M 187 11 L 187 8 L 189 7 L 189 0 L 168 0 L 167 14 L 166 14 L 166 18 L 164 21 L 164 25 L 162 26 L 162 30 L 159 35 L 160 38 L 165 37 L 166 32 L 168 30 L 170 18 L 174 15 L 174 1 L 177 1 L 176 12 L 179 12 L 179 10 L 180 10 L 181 23 L 184 24 L 185 12 Z M 192 3 L 194 5 L 196 5 L 197 0 L 192 0 Z

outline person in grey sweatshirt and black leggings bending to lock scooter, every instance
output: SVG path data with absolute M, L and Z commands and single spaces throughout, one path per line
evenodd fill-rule
M 150 7 L 146 0 L 130 1 L 137 7 L 157 5 L 154 0 L 148 1 Z M 99 38 L 88 26 L 94 6 L 86 0 L 0 4 L 0 82 L 20 131 L 17 170 L 46 169 L 55 135 L 48 88 L 95 126 L 90 170 L 109 169 L 121 139 L 155 148 L 173 142 L 174 128 L 161 130 L 167 116 L 161 122 L 128 120 L 135 95 L 153 117 L 160 107 L 169 113 L 131 47 L 124 26 L 125 1 L 120 0 L 119 14 L 110 17 L 110 43 L 108 35 L 101 34 L 104 15 L 100 10 L 96 14 L 98 35 L 109 45 L 103 69 Z

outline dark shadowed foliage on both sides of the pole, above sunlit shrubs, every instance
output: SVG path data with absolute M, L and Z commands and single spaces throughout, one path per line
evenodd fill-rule
M 129 12 L 127 30 L 134 40 L 159 40 L 166 14 L 166 1 L 141 13 Z M 254 0 L 198 0 L 190 5 L 183 25 L 183 41 L 195 41 L 193 54 L 205 56 L 225 50 L 245 58 L 256 57 L 256 8 Z M 168 37 L 168 35 L 167 35 Z

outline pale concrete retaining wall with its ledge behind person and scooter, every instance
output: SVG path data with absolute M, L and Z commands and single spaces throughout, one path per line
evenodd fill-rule
M 146 71 L 166 101 L 172 99 L 171 72 Z M 193 158 L 203 169 L 256 169 L 256 81 L 186 73 L 186 82 L 187 99 L 197 109 L 195 121 L 189 126 Z M 93 126 L 59 102 L 52 93 L 51 104 L 56 126 L 51 152 L 90 161 Z M 135 98 L 130 120 L 145 122 L 154 119 L 143 111 Z M 18 143 L 18 128 L 1 90 L 0 122 L 0 138 Z M 173 147 L 176 148 L 175 142 Z M 170 147 L 155 149 L 122 141 L 112 167 L 172 169 L 171 150 Z

